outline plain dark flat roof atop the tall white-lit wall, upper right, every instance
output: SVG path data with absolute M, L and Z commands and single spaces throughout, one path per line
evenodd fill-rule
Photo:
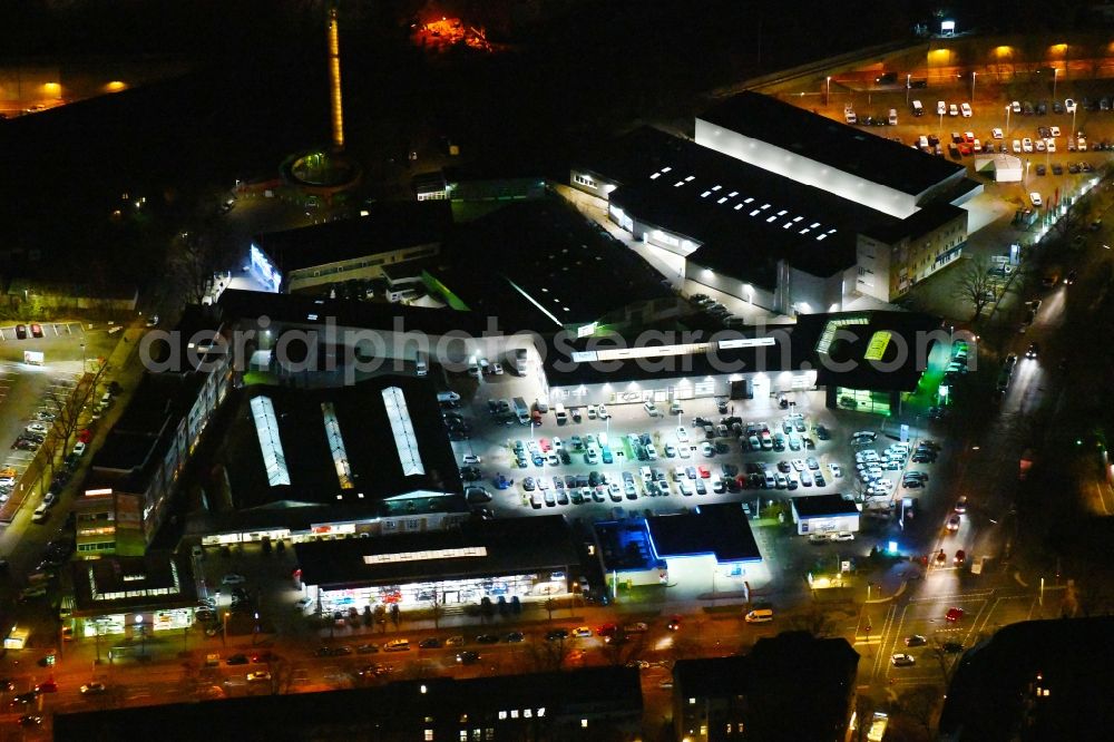
M 740 92 L 697 118 L 910 196 L 965 169 L 760 92 Z

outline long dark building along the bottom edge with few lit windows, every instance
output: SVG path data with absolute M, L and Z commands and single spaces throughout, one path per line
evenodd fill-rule
M 276 742 L 353 736 L 377 742 L 633 742 L 642 736 L 642 715 L 637 668 L 583 667 L 60 713 L 53 735 L 60 742 L 134 735 L 193 742 L 241 730 Z

